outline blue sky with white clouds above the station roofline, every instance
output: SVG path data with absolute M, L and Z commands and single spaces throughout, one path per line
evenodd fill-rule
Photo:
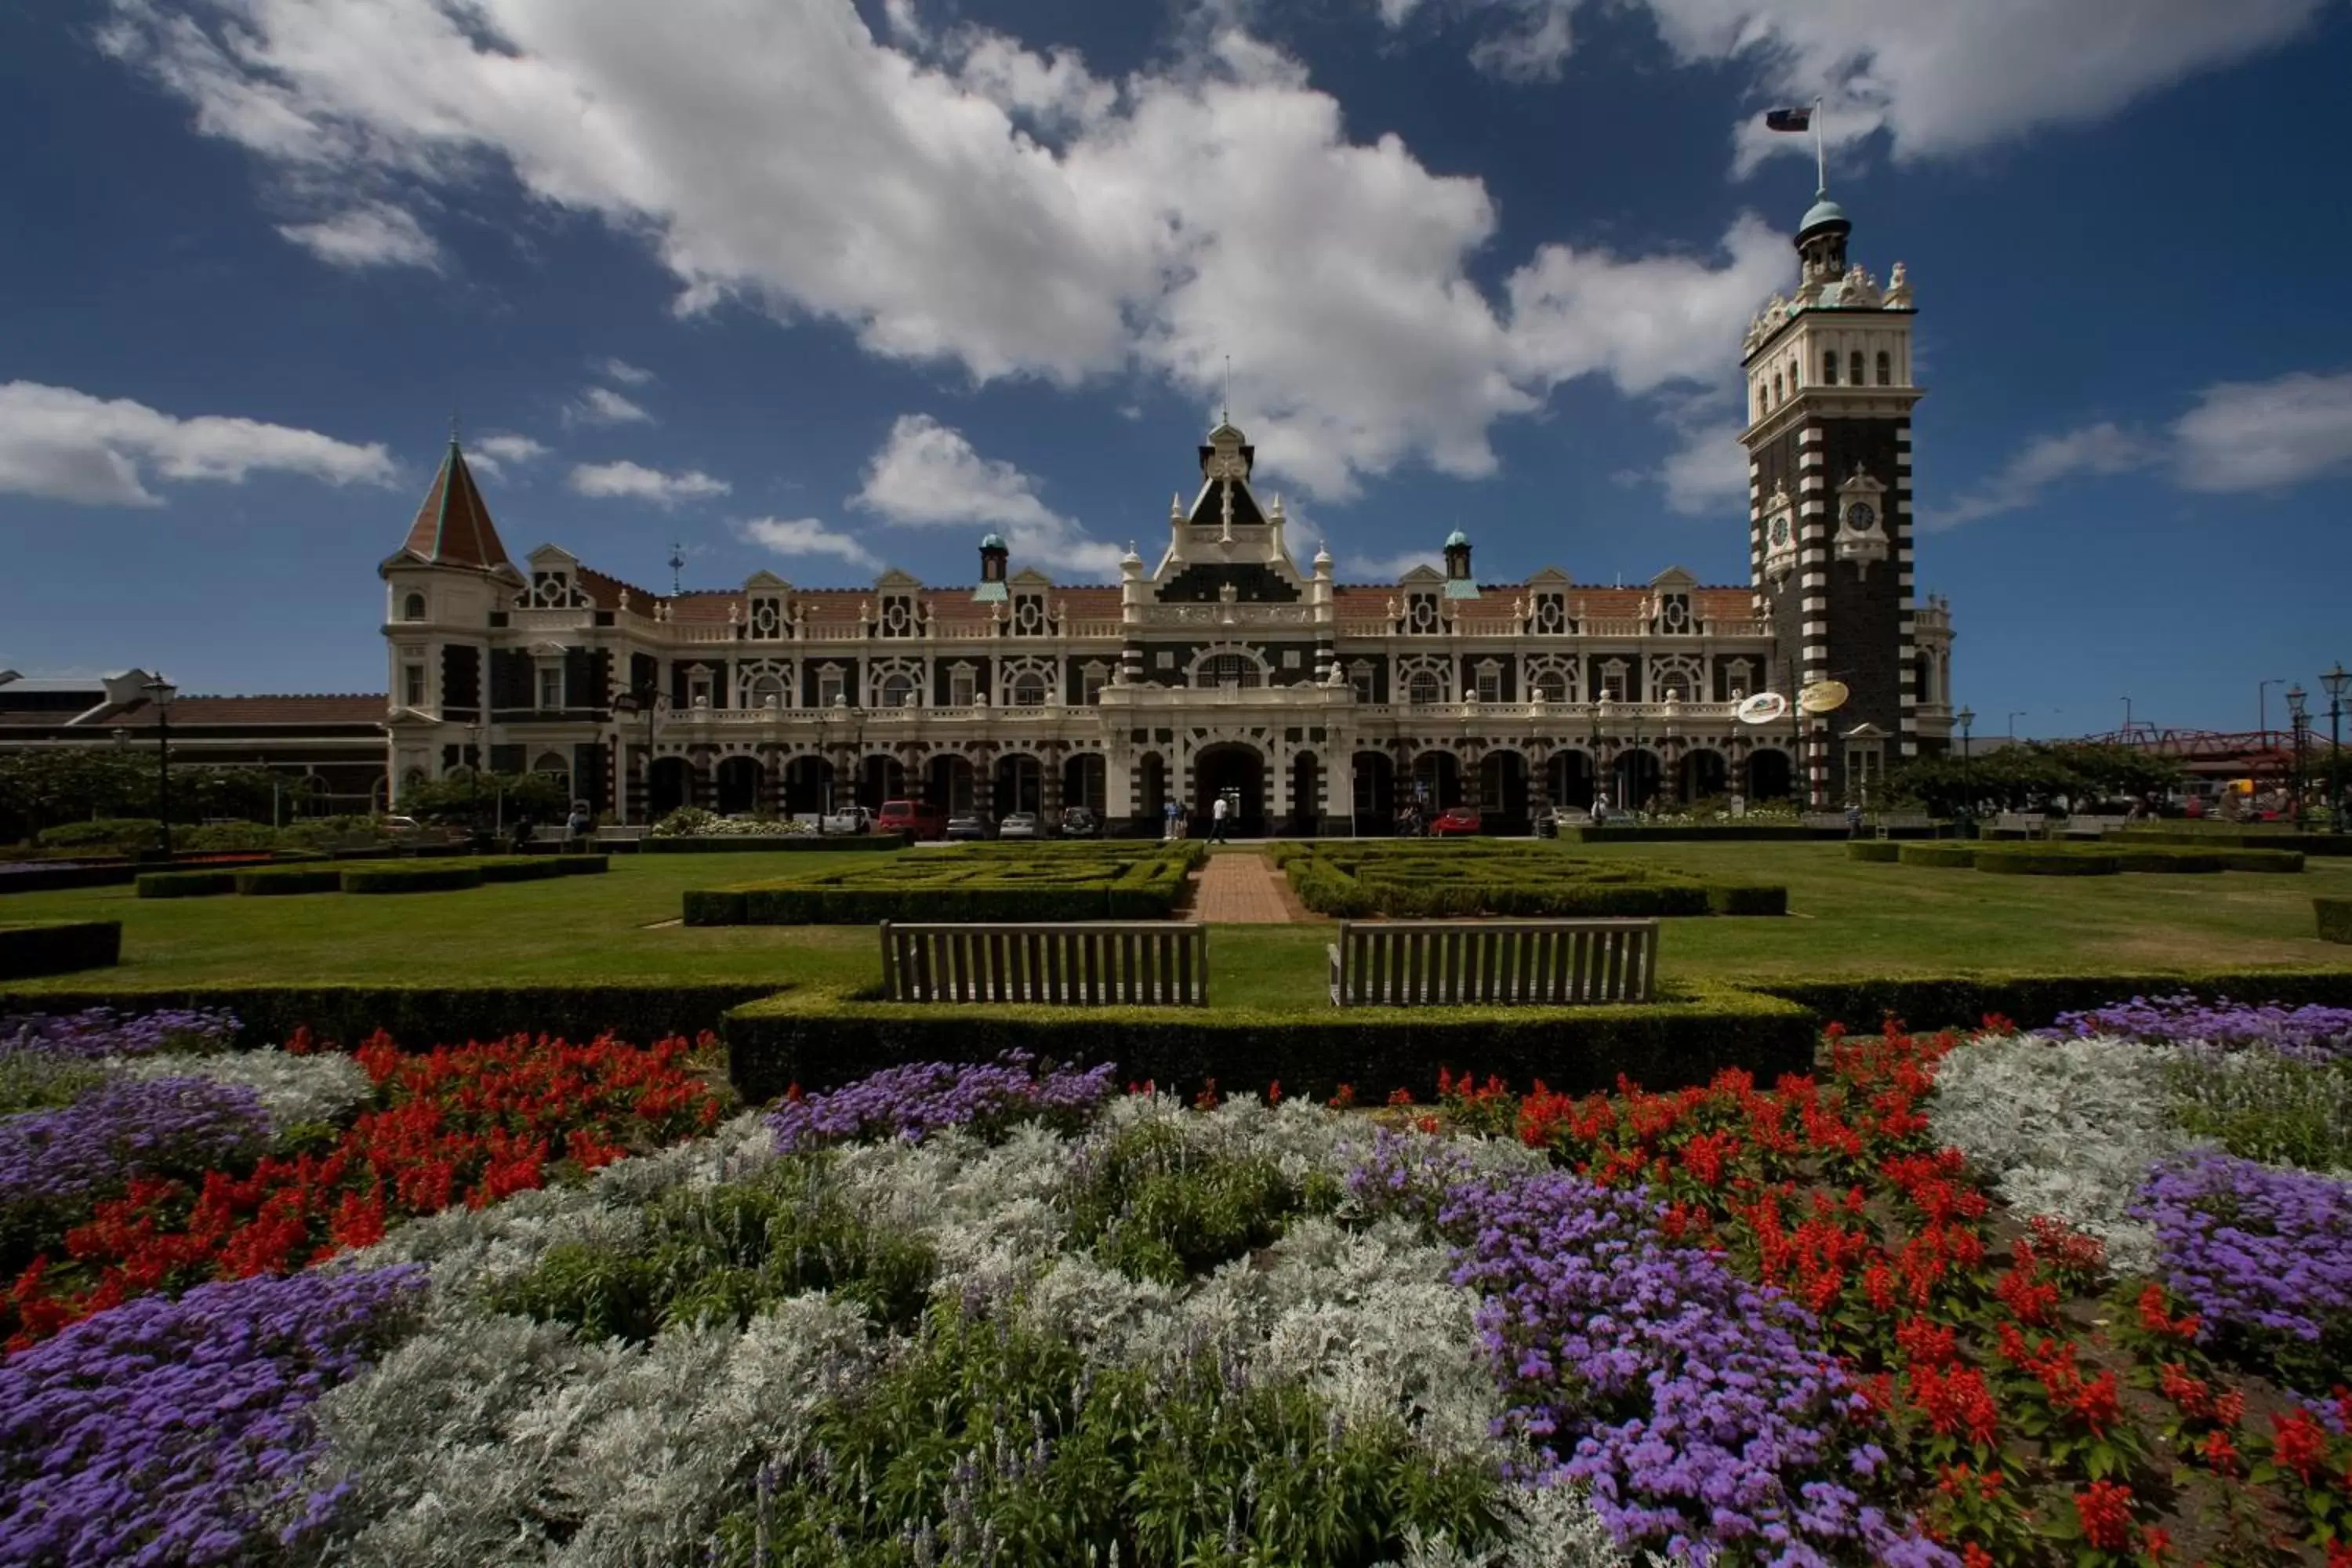
M 1385 581 L 1745 578 L 1825 96 L 1999 733 L 2352 658 L 2352 5 L 195 0 L 0 12 L 0 668 L 376 691 L 452 409 L 517 555 L 1103 576 L 1195 482 Z M 38 155 L 35 155 L 38 150 Z M 2272 693 L 2277 717 L 2277 693 Z

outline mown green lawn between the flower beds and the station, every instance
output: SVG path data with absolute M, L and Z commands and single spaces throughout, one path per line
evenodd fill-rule
M 955 851 L 908 851 L 955 853 Z M 2303 875 L 1987 877 L 1860 865 L 1839 844 L 1588 844 L 1562 853 L 1642 858 L 1708 877 L 1778 882 L 1790 914 L 1668 922 L 1663 973 L 1919 976 L 2352 969 L 2321 943 L 2312 896 L 2352 896 L 2352 860 Z M 680 896 L 863 863 L 858 853 L 623 856 L 604 877 L 456 893 L 141 900 L 129 889 L 12 893 L 7 919 L 120 919 L 122 966 L 21 990 L 230 983 L 814 980 L 880 978 L 863 926 L 675 924 Z M 1211 938 L 1221 1004 L 1319 1009 L 1331 926 L 1223 926 Z

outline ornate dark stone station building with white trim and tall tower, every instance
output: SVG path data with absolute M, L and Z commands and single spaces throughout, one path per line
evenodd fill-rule
M 988 536 L 967 585 L 760 571 L 656 595 L 555 545 L 508 557 L 452 442 L 381 564 L 388 776 L 536 769 L 628 823 L 922 797 L 1141 827 L 1240 790 L 1244 832 L 1385 832 L 1416 783 L 1505 832 L 1597 788 L 1835 809 L 1945 745 L 1952 644 L 1912 588 L 1910 282 L 1851 266 L 1849 228 L 1818 200 L 1795 294 L 1748 329 L 1748 583 L 1479 581 L 1461 534 L 1444 571 L 1336 583 L 1327 552 L 1298 564 L 1221 423 L 1117 585 L 1054 583 Z M 1813 682 L 1849 701 L 1733 715 Z

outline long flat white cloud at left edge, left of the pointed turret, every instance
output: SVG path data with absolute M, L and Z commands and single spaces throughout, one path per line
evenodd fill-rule
M 148 480 L 242 484 L 294 473 L 327 484 L 393 484 L 381 442 L 205 414 L 176 418 L 127 397 L 64 386 L 0 386 L 0 491 L 82 505 L 162 505 Z

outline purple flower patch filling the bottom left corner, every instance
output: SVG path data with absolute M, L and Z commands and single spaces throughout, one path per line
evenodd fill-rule
M 228 1563 L 299 1495 L 308 1406 L 412 1321 L 423 1269 L 143 1295 L 0 1363 L 0 1566 Z

